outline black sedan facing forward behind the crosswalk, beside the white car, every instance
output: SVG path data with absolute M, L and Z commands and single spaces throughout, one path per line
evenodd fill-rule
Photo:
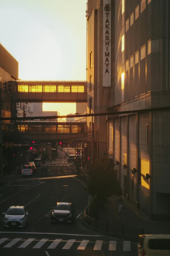
M 57 203 L 51 209 L 51 223 L 73 223 L 76 219 L 76 208 L 72 203 Z

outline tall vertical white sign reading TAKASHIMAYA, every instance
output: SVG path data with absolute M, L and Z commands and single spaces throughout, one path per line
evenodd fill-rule
M 103 87 L 111 87 L 111 0 L 103 0 Z

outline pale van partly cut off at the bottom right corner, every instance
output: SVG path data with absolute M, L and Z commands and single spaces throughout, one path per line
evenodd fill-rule
M 170 235 L 139 235 L 138 256 L 170 255 Z

